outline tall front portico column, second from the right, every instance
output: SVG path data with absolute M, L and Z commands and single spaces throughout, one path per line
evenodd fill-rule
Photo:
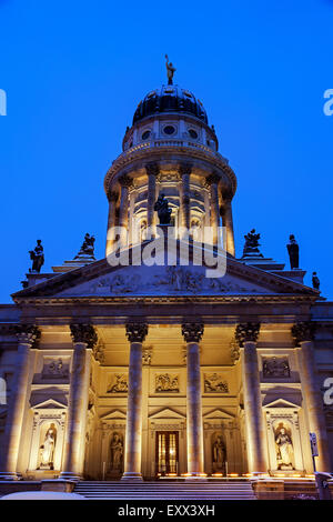
M 246 451 L 249 471 L 253 474 L 268 472 L 265 431 L 262 412 L 256 340 L 260 323 L 239 324 L 235 339 L 242 350 L 243 400 L 245 413 Z

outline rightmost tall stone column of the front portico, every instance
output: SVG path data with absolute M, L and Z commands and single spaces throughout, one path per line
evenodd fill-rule
M 300 348 L 300 370 L 304 413 L 307 415 L 309 428 L 316 434 L 319 456 L 315 458 L 316 471 L 332 471 L 327 431 L 323 410 L 323 399 L 317 382 L 316 362 L 314 358 L 315 324 L 311 321 L 299 322 L 292 328 L 295 347 Z M 307 434 L 309 440 L 309 434 Z M 310 444 L 310 442 L 309 442 Z

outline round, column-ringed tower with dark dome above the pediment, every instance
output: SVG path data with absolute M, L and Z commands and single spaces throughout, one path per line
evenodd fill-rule
M 219 153 L 214 128 L 192 92 L 173 84 L 149 92 L 134 112 L 122 149 L 104 180 L 107 255 L 114 248 L 114 227 L 128 230 L 123 247 L 143 240 L 147 228 L 154 229 L 154 203 L 161 193 L 172 210 L 176 238 L 182 239 L 182 230 L 211 227 L 212 243 L 223 242 L 234 255 L 231 201 L 236 178 Z M 219 227 L 225 227 L 223 238 Z

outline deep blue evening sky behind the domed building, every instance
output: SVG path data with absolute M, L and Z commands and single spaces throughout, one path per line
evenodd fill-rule
M 333 2 L 58 2 L 0 0 L 1 293 L 30 267 L 42 239 L 43 271 L 72 259 L 85 232 L 104 255 L 103 178 L 121 152 L 139 101 L 165 83 L 202 100 L 239 187 L 236 253 L 253 227 L 262 252 L 319 272 L 333 299 Z

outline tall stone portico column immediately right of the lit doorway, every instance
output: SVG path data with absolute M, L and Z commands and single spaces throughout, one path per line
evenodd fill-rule
M 203 466 L 203 426 L 200 374 L 199 342 L 203 334 L 202 323 L 185 323 L 182 334 L 186 342 L 188 393 L 186 393 L 186 431 L 188 431 L 188 473 L 190 478 L 202 478 Z

